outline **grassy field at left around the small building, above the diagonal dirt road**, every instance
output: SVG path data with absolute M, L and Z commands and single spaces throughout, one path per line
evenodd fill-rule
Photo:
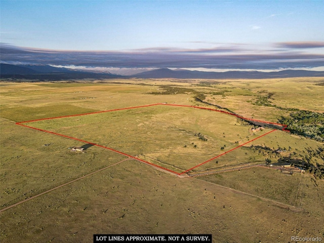
M 125 158 L 98 147 L 87 153 L 67 149 L 83 145 L 1 118 L 0 209 Z

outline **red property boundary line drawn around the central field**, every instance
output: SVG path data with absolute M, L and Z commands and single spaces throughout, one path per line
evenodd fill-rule
M 92 142 L 89 142 L 89 141 L 85 141 L 85 140 L 82 140 L 82 139 L 78 139 L 78 138 L 74 138 L 74 137 L 66 136 L 66 135 L 64 135 L 64 134 L 59 134 L 59 133 L 51 132 L 51 131 L 48 131 L 48 130 L 39 129 L 39 128 L 34 128 L 34 127 L 31 127 L 31 126 L 24 125 L 24 123 L 31 123 L 31 122 L 33 122 L 33 121 L 50 120 L 50 119 L 58 119 L 58 118 L 73 117 L 73 116 L 80 116 L 80 115 L 98 114 L 98 113 L 111 112 L 111 111 L 118 111 L 118 110 L 128 110 L 128 109 L 136 109 L 136 108 L 150 107 L 150 106 L 155 106 L 155 105 L 168 105 L 168 106 L 177 106 L 177 107 L 190 107 L 190 108 L 205 109 L 205 110 L 210 110 L 210 111 L 217 111 L 217 112 L 225 113 L 225 114 L 228 114 L 228 115 L 236 116 L 237 118 L 240 118 L 240 119 L 251 120 L 251 121 L 257 121 L 257 122 L 264 123 L 264 124 L 271 124 L 271 125 L 280 126 L 280 127 L 282 127 L 282 129 L 281 129 L 282 131 L 290 132 L 289 130 L 286 130 L 286 128 L 287 128 L 286 125 L 282 125 L 282 124 L 278 124 L 278 123 L 271 123 L 271 122 L 269 122 L 269 121 L 262 121 L 262 120 L 257 120 L 257 119 L 246 118 L 246 117 L 242 117 L 242 116 L 239 116 L 239 115 L 237 115 L 237 114 L 234 114 L 234 113 L 231 113 L 231 112 L 227 112 L 227 111 L 223 111 L 223 110 L 217 110 L 217 109 L 206 108 L 206 107 L 200 107 L 200 106 L 177 105 L 177 104 L 164 104 L 164 103 L 156 103 L 156 104 L 150 104 L 150 105 L 134 106 L 134 107 L 127 107 L 127 108 L 112 109 L 112 110 L 103 110 L 103 111 L 96 111 L 96 112 L 83 113 L 83 114 L 64 115 L 64 116 L 57 116 L 57 117 L 49 117 L 49 118 L 42 118 L 42 119 L 34 119 L 34 120 L 20 121 L 20 122 L 16 123 L 16 125 L 19 125 L 19 126 L 22 126 L 22 127 L 26 127 L 26 128 L 30 128 L 30 129 L 34 129 L 34 130 L 41 131 L 41 132 L 45 132 L 45 133 L 54 134 L 54 135 L 57 135 L 57 136 L 61 136 L 61 137 L 64 137 L 64 138 L 68 138 L 68 139 L 73 139 L 73 140 L 76 140 L 76 141 L 79 141 L 79 142 L 89 143 L 89 144 L 92 144 L 92 145 L 94 145 L 94 146 L 98 146 L 98 147 L 101 147 L 101 148 L 105 148 L 105 149 L 108 149 L 108 150 L 110 150 L 110 151 L 112 151 L 112 152 L 115 152 L 115 153 L 118 153 L 118 154 L 121 154 L 121 155 L 127 156 L 127 157 L 129 157 L 129 158 L 133 158 L 133 159 L 135 159 L 135 160 L 138 160 L 138 161 L 140 161 L 140 162 L 142 162 L 142 163 L 144 163 L 144 164 L 146 164 L 146 165 L 153 166 L 153 167 L 158 168 L 158 169 L 161 169 L 161 170 L 165 170 L 165 171 L 167 171 L 167 172 L 169 172 L 169 173 L 172 173 L 172 174 L 174 174 L 174 175 L 177 175 L 177 176 L 178 176 L 178 175 L 182 175 L 182 174 L 184 174 L 184 173 L 186 173 L 186 172 L 188 172 L 188 171 L 191 171 L 191 170 L 193 170 L 193 169 L 195 169 L 195 168 L 197 168 L 197 167 L 199 167 L 199 166 L 201 166 L 201 165 L 204 165 L 204 164 L 208 163 L 209 161 L 211 161 L 211 160 L 213 160 L 213 159 L 215 159 L 215 158 L 218 158 L 218 157 L 220 157 L 220 156 L 222 156 L 222 155 L 225 155 L 225 154 L 227 154 L 227 153 L 229 153 L 229 152 L 231 152 L 231 151 L 233 151 L 233 150 L 235 150 L 235 149 L 237 149 L 237 148 L 240 148 L 240 147 L 242 147 L 242 146 L 244 146 L 244 145 L 246 145 L 246 144 L 248 144 L 248 143 L 251 143 L 251 142 L 253 142 L 253 141 L 255 141 L 255 140 L 257 140 L 257 139 L 259 139 L 259 138 L 261 138 L 261 137 L 263 137 L 263 136 L 265 136 L 265 135 L 267 135 L 267 134 L 269 134 L 269 133 L 272 133 L 272 132 L 274 132 L 274 131 L 277 131 L 277 129 L 273 129 L 273 130 L 271 130 L 270 132 L 267 132 L 267 133 L 265 133 L 265 134 L 263 134 L 263 135 L 261 135 L 261 136 L 255 138 L 255 139 L 252 139 L 251 141 L 248 141 L 248 142 L 246 142 L 246 143 L 244 143 L 244 144 L 241 144 L 241 145 L 239 145 L 239 146 L 237 146 L 237 147 L 235 147 L 235 148 L 232 148 L 232 149 L 230 149 L 230 150 L 228 150 L 228 151 L 226 151 L 226 152 L 224 152 L 224 153 L 222 153 L 222 154 L 219 154 L 219 155 L 217 155 L 217 156 L 215 156 L 215 157 L 213 157 L 213 158 L 211 158 L 211 159 L 208 159 L 208 160 L 204 161 L 203 163 L 198 164 L 198 165 L 196 165 L 196 166 L 194 166 L 194 167 L 192 167 L 192 168 L 190 168 L 190 169 L 188 169 L 188 170 L 186 170 L 186 171 L 183 171 L 183 172 L 181 172 L 181 173 L 177 173 L 177 172 L 175 172 L 175 171 L 172 171 L 172 170 L 169 170 L 169 169 L 167 169 L 167 168 L 164 168 L 164 167 L 161 167 L 161 166 L 158 166 L 158 165 L 152 164 L 152 163 L 150 163 L 150 162 L 148 162 L 148 161 L 146 161 L 146 160 L 143 160 L 143 159 L 140 159 L 140 158 L 134 157 L 134 156 L 132 156 L 132 155 L 129 155 L 129 154 L 127 154 L 127 153 L 124 153 L 124 152 L 121 152 L 121 151 L 115 150 L 115 149 L 113 149 L 113 148 L 109 148 L 109 147 L 106 147 L 106 146 L 103 146 L 103 145 L 100 145 L 100 144 L 95 144 L 95 143 L 92 143 Z

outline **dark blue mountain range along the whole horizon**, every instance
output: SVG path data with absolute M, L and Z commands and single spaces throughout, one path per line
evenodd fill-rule
M 283 70 L 273 72 L 260 71 L 227 71 L 205 72 L 190 71 L 186 69 L 171 70 L 160 68 L 151 71 L 140 72 L 131 76 L 122 76 L 111 73 L 95 73 L 79 71 L 68 68 L 53 67 L 50 65 L 11 65 L 0 64 L 0 77 L 12 79 L 33 80 L 69 80 L 69 79 L 107 79 L 107 78 L 179 78 L 179 79 L 226 79 L 226 78 L 284 78 L 284 77 L 324 77 L 324 71 L 308 70 Z

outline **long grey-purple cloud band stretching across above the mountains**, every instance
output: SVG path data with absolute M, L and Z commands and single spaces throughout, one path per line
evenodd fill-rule
M 293 46 L 296 48 L 296 45 Z M 324 54 L 301 53 L 294 49 L 282 52 L 284 47 L 287 48 L 287 43 L 268 51 L 257 50 L 256 47 L 249 50 L 236 45 L 211 49 L 149 48 L 117 52 L 56 51 L 2 44 L 0 52 L 2 61 L 7 63 L 84 67 L 278 69 L 324 66 Z

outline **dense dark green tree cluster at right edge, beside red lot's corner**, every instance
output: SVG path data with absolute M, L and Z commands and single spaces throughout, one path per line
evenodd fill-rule
M 289 117 L 281 117 L 279 123 L 287 125 L 292 133 L 318 141 L 324 141 L 324 114 L 301 110 L 291 113 Z

